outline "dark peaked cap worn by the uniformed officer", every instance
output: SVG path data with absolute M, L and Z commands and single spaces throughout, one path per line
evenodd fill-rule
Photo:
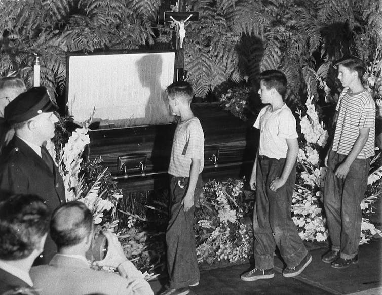
M 41 113 L 58 110 L 44 86 L 33 87 L 19 94 L 4 109 L 4 119 L 9 124 L 27 121 Z

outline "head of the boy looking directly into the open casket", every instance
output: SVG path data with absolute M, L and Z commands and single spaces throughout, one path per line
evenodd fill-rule
M 191 104 L 193 100 L 193 88 L 188 82 L 178 81 L 169 85 L 166 89 L 167 99 L 172 115 L 179 116 L 179 106 Z

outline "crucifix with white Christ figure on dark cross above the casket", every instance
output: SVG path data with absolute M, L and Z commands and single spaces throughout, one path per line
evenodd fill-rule
M 177 11 L 165 11 L 164 20 L 173 21 L 176 26 L 176 35 L 173 37 L 176 57 L 176 80 L 182 80 L 184 78 L 184 39 L 186 35 L 186 26 L 190 21 L 197 21 L 199 19 L 199 12 L 197 11 L 185 11 L 186 0 L 178 0 Z

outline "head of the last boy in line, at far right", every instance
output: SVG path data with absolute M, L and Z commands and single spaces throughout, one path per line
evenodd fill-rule
M 338 79 L 343 87 L 361 82 L 366 71 L 363 61 L 354 56 L 343 57 L 335 65 L 338 67 Z

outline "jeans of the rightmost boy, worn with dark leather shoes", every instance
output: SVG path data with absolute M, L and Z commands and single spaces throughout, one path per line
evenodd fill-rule
M 324 208 L 332 243 L 343 259 L 352 259 L 358 253 L 361 235 L 361 201 L 366 191 L 370 159 L 355 159 L 345 179 L 334 175 L 345 155 L 330 151 L 325 178 Z

